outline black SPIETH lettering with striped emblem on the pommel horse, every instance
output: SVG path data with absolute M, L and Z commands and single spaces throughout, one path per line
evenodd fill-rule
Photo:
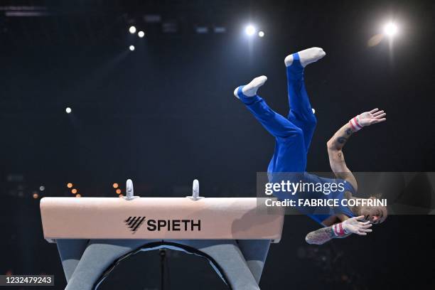
M 129 217 L 124 220 L 125 224 L 134 234 L 139 227 L 145 222 L 146 217 Z M 200 232 L 201 220 L 152 220 L 145 222 L 145 230 L 149 232 L 166 231 L 166 232 Z

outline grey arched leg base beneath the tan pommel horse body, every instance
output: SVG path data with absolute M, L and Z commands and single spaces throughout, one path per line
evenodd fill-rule
M 66 289 L 92 289 L 117 259 L 152 242 L 187 246 L 209 256 L 234 290 L 259 289 L 270 245 L 269 240 L 57 240 Z

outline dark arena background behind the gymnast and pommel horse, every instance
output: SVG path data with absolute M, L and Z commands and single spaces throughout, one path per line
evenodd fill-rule
M 284 58 L 312 46 L 326 57 L 305 73 L 318 119 L 307 170 L 331 171 L 326 141 L 380 107 L 388 121 L 344 149 L 350 168 L 435 171 L 434 18 L 433 1 L 1 1 L 0 274 L 53 274 L 47 289 L 65 288 L 43 197 L 117 197 L 127 178 L 142 197 L 190 195 L 195 178 L 205 197 L 254 197 L 274 139 L 233 90 L 267 75 L 261 95 L 286 114 Z M 380 35 L 391 19 L 394 40 Z M 434 289 L 434 226 L 391 215 L 367 237 L 316 246 L 316 222 L 287 215 L 259 286 Z M 171 249 L 124 259 L 99 289 L 163 282 L 228 289 L 206 259 Z

